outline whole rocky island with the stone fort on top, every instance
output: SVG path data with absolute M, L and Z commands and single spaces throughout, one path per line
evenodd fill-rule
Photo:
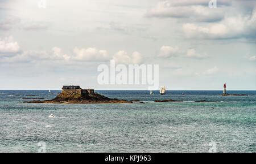
M 24 101 L 25 103 L 132 103 L 127 100 L 108 98 L 94 92 L 94 89 L 82 89 L 80 86 L 63 86 L 62 92 L 52 100 Z

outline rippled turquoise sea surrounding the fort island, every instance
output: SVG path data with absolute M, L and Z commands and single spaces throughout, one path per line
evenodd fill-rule
M 249 96 L 219 96 L 222 91 L 150 95 L 147 90 L 96 90 L 143 104 L 22 103 L 27 101 L 22 98 L 30 98 L 24 95 L 51 99 L 56 94 L 0 92 L 0 152 L 38 152 L 39 142 L 46 144 L 46 152 L 208 152 L 211 142 L 216 152 L 256 152 L 256 91 L 228 92 Z M 184 101 L 153 101 L 163 99 Z

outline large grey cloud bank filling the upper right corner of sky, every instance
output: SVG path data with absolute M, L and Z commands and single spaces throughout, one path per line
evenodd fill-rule
M 146 16 L 178 18 L 186 38 L 256 38 L 255 1 L 217 0 L 217 8 L 210 8 L 208 3 L 205 0 L 159 1 Z

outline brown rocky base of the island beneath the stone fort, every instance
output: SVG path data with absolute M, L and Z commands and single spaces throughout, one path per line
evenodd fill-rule
M 131 103 L 127 100 L 119 100 L 117 98 L 108 98 L 101 94 L 77 94 L 61 92 L 52 100 L 34 100 L 24 101 L 27 103 Z

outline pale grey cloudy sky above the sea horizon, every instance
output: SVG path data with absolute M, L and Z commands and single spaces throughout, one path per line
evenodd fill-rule
M 256 89 L 256 1 L 0 0 L 0 90 L 99 84 L 110 60 L 159 64 L 167 90 Z

